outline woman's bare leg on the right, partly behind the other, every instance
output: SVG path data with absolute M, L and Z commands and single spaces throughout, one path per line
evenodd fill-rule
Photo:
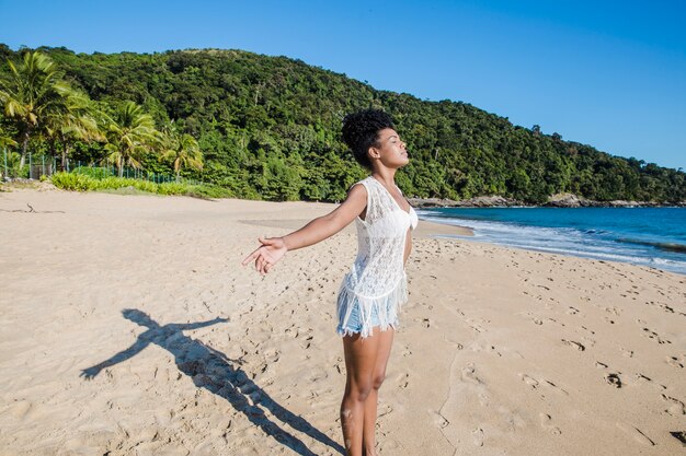
M 371 374 L 371 391 L 365 400 L 365 420 L 362 431 L 362 445 L 363 455 L 376 456 L 376 408 L 379 398 L 379 388 L 386 378 L 386 365 L 390 356 L 390 349 L 393 344 L 393 328 L 389 328 L 381 331 L 377 328 L 375 335 L 378 332 L 379 342 L 376 355 L 376 363 L 374 365 L 374 372 Z

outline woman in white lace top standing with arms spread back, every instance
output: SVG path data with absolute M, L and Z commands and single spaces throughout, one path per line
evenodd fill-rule
M 346 369 L 341 424 L 347 454 L 371 456 L 378 390 L 398 327 L 398 308 L 408 299 L 404 264 L 418 218 L 395 183 L 396 171 L 409 159 L 390 116 L 376 109 L 346 116 L 343 140 L 370 176 L 353 185 L 331 213 L 286 236 L 259 238 L 262 246 L 243 266 L 254 260 L 255 269 L 265 274 L 286 252 L 323 241 L 355 220 L 359 249 L 338 297 L 336 330 Z

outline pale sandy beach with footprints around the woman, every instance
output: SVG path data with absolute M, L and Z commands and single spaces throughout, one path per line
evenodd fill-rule
M 0 192 L 0 454 L 341 454 L 354 225 L 240 266 L 332 208 Z M 415 232 L 379 455 L 686 454 L 686 276 L 456 230 Z

